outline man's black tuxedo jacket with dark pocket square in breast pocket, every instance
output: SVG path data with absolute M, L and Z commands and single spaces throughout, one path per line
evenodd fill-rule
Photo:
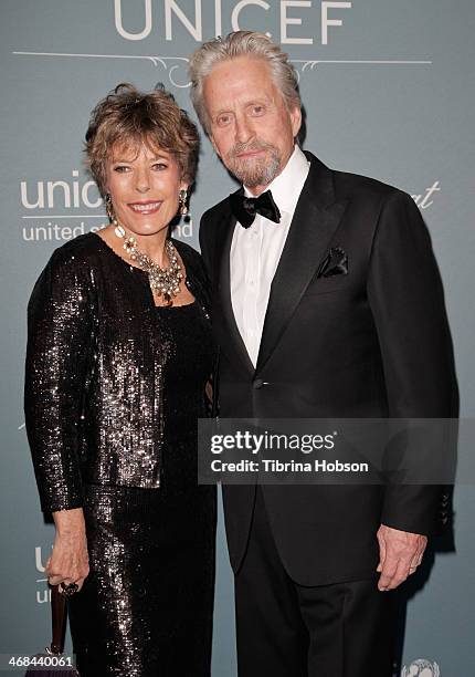
M 309 173 L 272 283 L 255 368 L 231 304 L 230 199 L 201 220 L 221 350 L 220 416 L 455 417 L 443 289 L 418 207 L 401 190 L 306 156 Z M 346 272 L 319 274 L 337 248 Z M 282 562 L 303 585 L 373 576 L 380 523 L 429 534 L 440 507 L 435 486 L 262 489 Z M 223 487 L 234 571 L 245 555 L 254 498 L 255 486 Z

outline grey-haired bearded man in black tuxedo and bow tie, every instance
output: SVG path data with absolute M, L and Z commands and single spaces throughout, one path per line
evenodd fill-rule
M 265 35 L 212 40 L 190 73 L 200 121 L 243 185 L 200 228 L 221 416 L 455 416 L 442 285 L 413 200 L 300 150 L 296 75 Z M 223 496 L 240 676 L 389 677 L 388 591 L 421 563 L 439 490 L 230 486 Z

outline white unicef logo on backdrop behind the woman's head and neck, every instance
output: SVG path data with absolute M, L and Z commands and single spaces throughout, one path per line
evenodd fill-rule
M 62 242 L 107 223 L 97 186 L 78 169 L 62 179 L 21 180 L 20 207 L 21 239 L 25 242 Z M 173 235 L 191 238 L 192 220 L 180 222 Z

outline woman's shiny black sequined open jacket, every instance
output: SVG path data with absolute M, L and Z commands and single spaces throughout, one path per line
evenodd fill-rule
M 173 240 L 209 317 L 201 258 Z M 57 248 L 28 305 L 24 412 L 41 508 L 78 508 L 82 486 L 157 488 L 167 341 L 148 274 L 91 232 Z

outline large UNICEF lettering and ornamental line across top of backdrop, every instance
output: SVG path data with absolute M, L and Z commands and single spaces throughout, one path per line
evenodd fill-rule
M 182 44 L 184 30 L 194 45 L 209 35 L 208 21 L 212 22 L 214 35 L 223 35 L 255 27 L 261 18 L 264 22 L 277 23 L 274 33 L 267 35 L 284 46 L 296 45 L 300 48 L 326 46 L 334 44 L 339 35 L 344 35 L 348 20 L 353 10 L 353 2 L 327 0 L 279 0 L 266 2 L 265 0 L 240 0 L 225 7 L 223 0 L 204 3 L 203 0 L 114 0 L 114 15 L 112 17 L 114 30 L 124 40 L 124 44 L 155 40 L 155 43 L 165 42 Z M 207 13 L 204 14 L 204 11 Z M 213 12 L 210 17 L 209 12 Z M 203 19 L 204 28 L 203 32 Z M 262 28 L 261 30 L 265 30 Z M 147 43 L 148 44 L 148 43 Z M 188 45 L 184 54 L 85 54 L 65 52 L 25 52 L 15 51 L 13 54 L 35 58 L 54 59 L 113 59 L 113 60 L 141 60 L 163 69 L 171 85 L 179 88 L 190 86 L 187 76 L 188 56 L 194 49 Z M 314 71 L 316 66 L 327 65 L 430 65 L 432 61 L 408 59 L 291 59 L 297 74 Z

